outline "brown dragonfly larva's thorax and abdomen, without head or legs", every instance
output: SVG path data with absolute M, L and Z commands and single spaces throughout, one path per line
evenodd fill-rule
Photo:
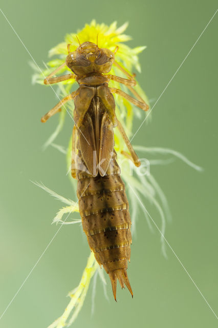
M 104 78 L 105 79 L 105 78 Z M 102 82 L 102 77 L 93 76 L 89 78 L 92 84 Z M 81 82 L 83 82 L 82 79 Z M 80 81 L 78 81 L 80 83 Z M 110 275 L 113 282 L 118 278 L 121 286 L 126 283 L 130 289 L 126 269 L 127 260 L 130 259 L 130 243 L 132 237 L 130 233 L 130 216 L 128 211 L 128 201 L 125 194 L 124 183 L 120 177 L 120 168 L 116 161 L 117 155 L 114 151 L 113 127 L 116 125 L 114 97 L 107 86 L 104 84 L 96 86 L 84 86 L 82 83 L 76 92 L 74 119 L 78 124 L 78 157 L 77 157 L 77 196 L 79 198 L 79 212 L 82 218 L 82 227 L 87 236 L 91 250 L 100 265 L 103 265 L 106 273 Z M 89 98 L 88 98 L 89 95 Z M 81 120 L 84 111 L 83 99 L 90 99 L 88 109 Z M 81 108 L 81 103 L 83 107 Z M 86 104 L 88 106 L 88 104 Z M 111 129 L 102 129 L 103 117 L 107 116 L 110 120 Z M 112 124 L 114 122 L 114 124 Z M 94 127 L 93 131 L 90 125 Z M 94 147 L 97 158 L 99 157 L 100 147 L 98 144 L 101 139 L 110 138 L 108 152 L 111 152 L 110 161 L 105 172 L 90 172 L 90 167 L 86 165 L 84 150 L 90 146 L 86 140 L 90 141 L 89 136 L 94 132 Z M 103 135 L 102 135 L 103 134 Z M 84 140 L 84 138 L 86 140 Z M 105 145 L 106 142 L 106 145 Z M 108 146 L 107 141 L 104 147 Z M 110 149 L 112 147 L 112 149 Z M 92 156 L 90 153 L 89 156 Z M 89 166 L 89 165 L 88 165 Z M 96 174 L 97 173 L 97 174 Z M 96 175 L 96 176 L 93 176 Z M 131 290 L 132 292 L 132 290 Z M 116 293 L 116 291 L 115 291 Z

